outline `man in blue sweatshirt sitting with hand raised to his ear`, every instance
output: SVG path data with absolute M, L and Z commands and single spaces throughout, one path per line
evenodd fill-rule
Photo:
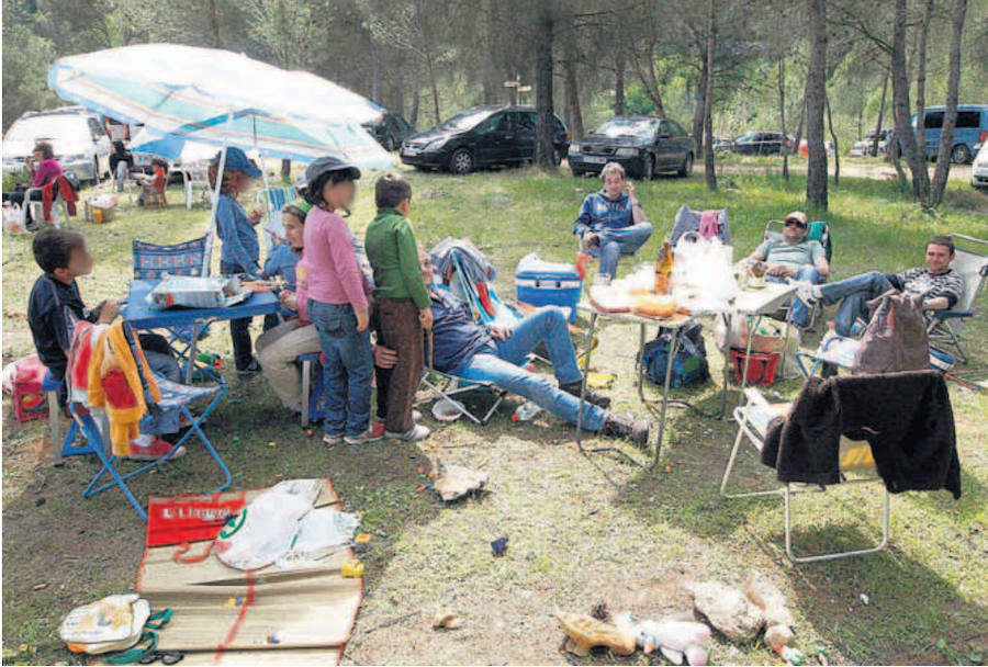
M 625 168 L 608 162 L 600 170 L 604 188 L 586 195 L 573 234 L 581 249 L 600 258 L 597 280 L 609 283 L 617 275 L 622 255 L 635 255 L 652 236 L 652 225 L 635 196 L 635 185 L 625 179 Z

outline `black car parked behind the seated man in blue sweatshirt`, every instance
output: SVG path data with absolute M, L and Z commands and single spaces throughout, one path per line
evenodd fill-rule
M 573 142 L 569 161 L 573 176 L 599 173 L 607 162 L 618 162 L 629 174 L 648 180 L 660 171 L 689 176 L 695 156 L 693 137 L 674 121 L 615 116 Z

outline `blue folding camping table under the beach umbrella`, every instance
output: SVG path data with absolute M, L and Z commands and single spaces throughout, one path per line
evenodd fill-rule
M 159 281 L 132 280 L 124 309 L 124 320 L 135 329 L 157 329 L 187 325 L 192 327 L 192 344 L 189 348 L 189 363 L 186 364 L 186 384 L 192 383 L 192 368 L 195 361 L 195 346 L 199 332 L 211 321 L 238 319 L 278 313 L 280 305 L 273 292 L 255 292 L 247 301 L 225 308 L 169 308 L 154 310 L 147 305 L 147 295 Z

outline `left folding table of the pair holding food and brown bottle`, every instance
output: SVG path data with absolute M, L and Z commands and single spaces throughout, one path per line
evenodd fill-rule
M 670 400 L 669 398 L 669 382 L 672 376 L 672 365 L 673 360 L 676 358 L 676 349 L 680 347 L 680 337 L 682 336 L 683 330 L 687 325 L 694 321 L 694 315 L 674 315 L 669 318 L 659 318 L 659 317 L 648 317 L 636 315 L 633 313 L 606 313 L 604 310 L 598 310 L 593 305 L 587 302 L 581 302 L 576 305 L 577 310 L 582 310 L 584 313 L 590 314 L 590 328 L 586 334 L 586 349 L 584 350 L 584 359 L 585 359 L 585 369 L 587 372 L 583 373 L 583 382 L 580 385 L 580 411 L 576 416 L 576 446 L 583 450 L 583 445 L 581 444 L 581 437 L 583 431 L 583 409 L 586 405 L 586 378 L 590 374 L 591 368 L 591 354 L 593 352 L 593 341 L 594 341 L 594 331 L 597 328 L 597 318 L 598 317 L 607 317 L 615 321 L 630 323 L 637 324 L 639 326 L 639 350 L 638 350 L 638 396 L 641 398 L 642 403 L 647 402 L 644 395 L 644 380 L 645 380 L 645 370 L 644 364 L 641 363 L 641 355 L 644 353 L 644 343 L 645 343 L 645 327 L 653 325 L 664 327 L 666 329 L 672 330 L 673 337 L 672 341 L 669 346 L 669 362 L 665 369 L 665 383 L 662 386 L 662 399 L 659 408 L 659 436 L 655 438 L 655 455 L 652 459 L 652 467 L 659 463 L 659 453 L 662 451 L 662 437 L 665 433 L 665 410 L 669 407 L 670 403 L 678 403 L 686 404 L 684 400 Z

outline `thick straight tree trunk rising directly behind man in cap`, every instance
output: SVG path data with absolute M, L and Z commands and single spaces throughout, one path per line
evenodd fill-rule
M 810 61 L 806 75 L 806 201 L 827 211 L 827 148 L 823 146 L 823 106 L 827 95 L 827 0 L 807 0 Z

